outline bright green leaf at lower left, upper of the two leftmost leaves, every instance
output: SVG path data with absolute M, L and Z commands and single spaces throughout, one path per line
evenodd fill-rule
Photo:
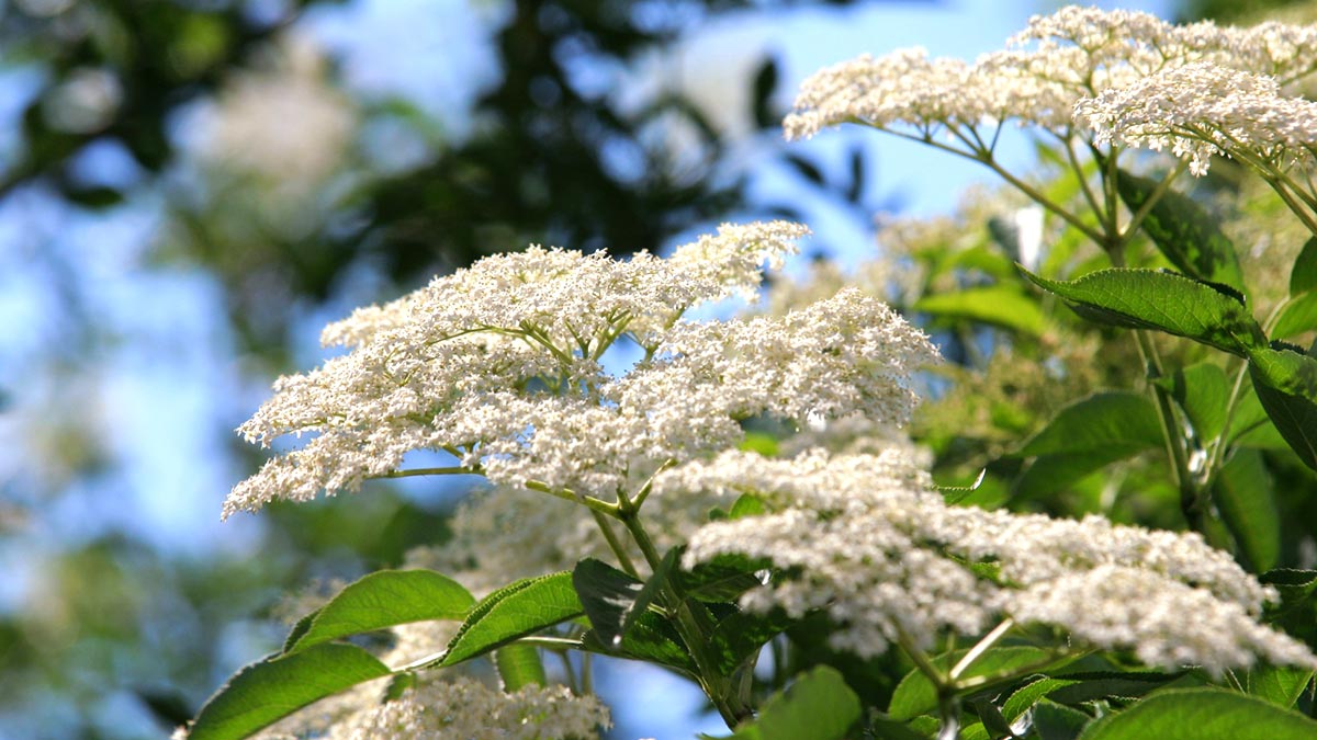
M 432 570 L 381 570 L 352 583 L 292 628 L 283 652 L 408 621 L 462 619 L 475 599 Z

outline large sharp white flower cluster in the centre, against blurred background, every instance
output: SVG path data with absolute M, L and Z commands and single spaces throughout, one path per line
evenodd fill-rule
M 610 499 L 666 461 L 735 446 L 747 417 L 903 423 L 917 400 L 909 377 L 936 350 L 859 291 L 781 317 L 682 317 L 752 295 L 761 265 L 805 233 L 723 226 L 668 259 L 531 248 L 358 311 L 323 337 L 348 354 L 281 378 L 240 428 L 263 445 L 315 437 L 240 483 L 224 515 L 356 490 L 412 450 L 450 453 L 495 483 Z M 611 375 L 602 357 L 623 338 L 644 359 Z

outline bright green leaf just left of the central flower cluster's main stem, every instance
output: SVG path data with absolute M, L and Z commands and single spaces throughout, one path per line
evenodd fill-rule
M 439 665 L 457 665 L 582 614 L 572 571 L 518 581 L 475 604 Z

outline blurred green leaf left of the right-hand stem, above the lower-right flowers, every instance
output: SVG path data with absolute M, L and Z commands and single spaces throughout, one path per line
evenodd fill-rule
M 1160 423 L 1147 396 L 1097 392 L 1062 408 L 1025 442 L 1017 454 L 1036 460 L 1011 491 L 1023 498 L 1050 494 L 1115 461 L 1160 448 Z

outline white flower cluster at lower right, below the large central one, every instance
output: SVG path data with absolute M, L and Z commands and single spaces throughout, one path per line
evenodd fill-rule
M 769 502 L 772 514 L 705 525 L 684 566 L 732 553 L 772 561 L 784 578 L 741 606 L 826 611 L 839 625 L 832 647 L 861 657 L 1011 618 L 1156 666 L 1220 673 L 1260 657 L 1317 668 L 1301 643 L 1256 621 L 1275 591 L 1196 533 L 947 506 L 896 452 L 724 453 L 660 474 L 656 492 L 678 491 Z

